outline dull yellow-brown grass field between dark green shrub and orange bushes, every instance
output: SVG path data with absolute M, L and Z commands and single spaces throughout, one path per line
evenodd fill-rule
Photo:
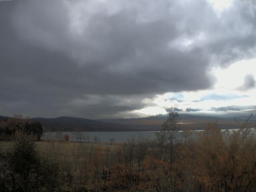
M 10 152 L 15 141 L 0 141 L 0 153 Z M 102 169 L 106 164 L 106 156 L 108 155 L 108 163 L 115 163 L 113 157 L 116 148 L 122 146 L 121 143 L 86 143 L 86 142 L 59 142 L 59 141 L 40 141 L 35 142 L 38 154 L 44 158 L 50 158 L 58 162 L 66 174 L 70 172 L 73 176 L 74 183 L 86 181 L 86 187 L 94 189 L 104 185 L 104 182 L 94 181 L 95 169 Z M 97 159 L 95 155 L 100 152 Z M 98 162 L 95 168 L 93 162 Z M 100 166 L 101 165 L 101 166 Z M 92 171 L 94 169 L 94 171 Z

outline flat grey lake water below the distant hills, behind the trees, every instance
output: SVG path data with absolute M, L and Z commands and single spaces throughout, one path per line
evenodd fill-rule
M 222 130 L 225 131 L 225 130 Z M 193 131 L 193 138 L 196 138 L 197 133 L 199 131 Z M 90 138 L 90 142 L 94 142 L 94 138 L 97 137 L 100 142 L 110 142 L 110 138 L 114 139 L 114 142 L 127 142 L 128 140 L 134 139 L 135 141 L 141 139 L 155 140 L 155 132 L 154 131 L 134 131 L 134 132 L 81 132 L 82 139 L 81 141 L 88 141 Z M 181 141 L 182 131 L 179 131 L 177 134 L 177 140 Z M 232 131 L 230 130 L 230 133 Z M 256 131 L 252 128 L 252 134 L 255 134 Z M 67 134 L 70 136 L 70 141 L 76 141 L 76 132 L 45 132 L 42 139 L 64 139 L 64 135 Z

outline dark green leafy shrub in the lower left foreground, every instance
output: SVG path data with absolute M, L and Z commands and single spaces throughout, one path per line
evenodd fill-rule
M 40 158 L 31 136 L 21 135 L 7 154 L 8 168 L 15 174 L 23 191 L 54 191 L 59 185 L 59 166 Z

